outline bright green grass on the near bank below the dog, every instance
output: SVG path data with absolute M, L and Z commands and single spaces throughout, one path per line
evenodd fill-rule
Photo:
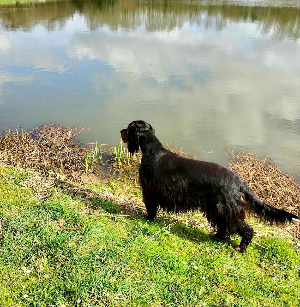
M 0 175 L 1 307 L 300 305 L 299 268 L 283 267 L 300 256 L 283 232 L 241 255 L 184 224 L 88 214 L 121 212 L 110 201 L 97 210 L 54 188 L 41 202 L 25 172 Z

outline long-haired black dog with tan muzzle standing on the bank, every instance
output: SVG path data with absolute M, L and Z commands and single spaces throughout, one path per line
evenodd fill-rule
M 237 233 L 242 241 L 236 250 L 246 250 L 253 228 L 246 223 L 254 212 L 264 222 L 284 224 L 300 220 L 297 216 L 259 200 L 250 187 L 231 170 L 205 161 L 180 157 L 165 149 L 150 124 L 137 120 L 121 131 L 122 140 L 133 154 L 141 148 L 140 184 L 148 212 L 154 220 L 158 206 L 171 212 L 200 209 L 217 227 L 213 236 L 229 241 Z

